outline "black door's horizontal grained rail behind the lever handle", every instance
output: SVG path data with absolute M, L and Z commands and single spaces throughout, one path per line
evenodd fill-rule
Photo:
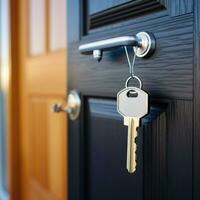
M 157 41 L 156 52 L 150 59 L 136 59 L 135 73 L 143 80 L 144 88 L 157 97 L 192 99 L 192 14 L 177 17 L 176 20 L 168 16 L 154 15 L 143 20 L 121 23 L 120 26 L 112 26 L 112 29 L 95 31 L 83 37 L 81 42 L 132 35 L 143 31 L 144 27 L 145 31 L 155 34 Z M 85 93 L 115 96 L 129 75 L 124 50 L 106 52 L 103 60 L 97 63 L 92 56 L 80 55 L 77 51 L 78 44 L 69 44 L 71 87 Z

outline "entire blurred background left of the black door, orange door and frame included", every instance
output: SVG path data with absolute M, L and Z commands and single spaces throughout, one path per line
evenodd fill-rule
M 0 200 L 67 199 L 66 0 L 0 0 Z

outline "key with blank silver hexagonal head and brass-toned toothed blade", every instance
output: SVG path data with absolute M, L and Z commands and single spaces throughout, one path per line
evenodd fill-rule
M 148 113 L 148 94 L 137 87 L 125 87 L 117 94 L 117 110 L 124 117 L 124 125 L 128 126 L 126 167 L 133 173 L 136 170 L 137 128 L 140 118 Z

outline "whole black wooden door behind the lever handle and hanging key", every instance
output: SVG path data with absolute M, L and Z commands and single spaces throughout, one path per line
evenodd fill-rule
M 200 199 L 199 4 L 68 0 L 68 88 L 82 104 L 78 120 L 69 120 L 69 200 Z M 140 31 L 155 35 L 156 51 L 136 58 L 151 104 L 138 130 L 137 170 L 129 174 L 127 127 L 116 109 L 129 76 L 124 49 L 97 62 L 78 47 Z

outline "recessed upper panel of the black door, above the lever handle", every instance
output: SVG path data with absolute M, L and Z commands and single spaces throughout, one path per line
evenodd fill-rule
M 119 4 L 114 0 L 109 3 L 108 1 L 101 3 L 98 9 L 96 8 L 98 4 L 95 1 L 85 0 L 84 5 L 88 5 L 90 8 L 89 13 L 85 14 L 85 17 L 88 18 L 88 26 L 85 28 L 86 33 L 90 32 L 91 29 L 107 24 L 113 25 L 116 22 L 127 21 L 160 11 L 165 11 L 170 16 L 179 16 L 191 13 L 193 10 L 193 1 L 190 0 L 135 0 L 126 1 L 124 4 Z

